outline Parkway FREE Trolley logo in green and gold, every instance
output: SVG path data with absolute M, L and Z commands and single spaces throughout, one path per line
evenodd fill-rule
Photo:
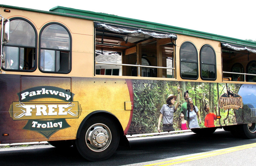
M 39 132 L 50 138 L 55 132 L 70 127 L 66 118 L 78 118 L 81 106 L 73 101 L 70 90 L 52 86 L 33 87 L 18 93 L 20 102 L 12 102 L 9 113 L 13 120 L 28 120 L 25 130 Z M 61 102 L 31 102 L 55 98 Z

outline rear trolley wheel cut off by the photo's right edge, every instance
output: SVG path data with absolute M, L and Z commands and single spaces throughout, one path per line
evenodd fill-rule
M 244 138 L 254 139 L 256 138 L 256 123 L 250 124 L 242 124 L 240 127 L 240 131 Z

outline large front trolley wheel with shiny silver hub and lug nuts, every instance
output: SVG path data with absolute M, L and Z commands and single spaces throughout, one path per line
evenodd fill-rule
M 119 144 L 119 130 L 113 120 L 96 116 L 89 118 L 76 139 L 78 152 L 87 160 L 108 159 Z

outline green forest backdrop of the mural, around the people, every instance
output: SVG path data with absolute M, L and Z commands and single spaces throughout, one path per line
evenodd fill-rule
M 157 122 L 160 109 L 166 104 L 169 94 L 178 95 L 177 86 L 180 85 L 180 103 L 173 115 L 173 128 L 180 130 L 178 126 L 181 105 L 185 102 L 183 94 L 188 90 L 195 106 L 199 110 L 202 123 L 200 128 L 204 128 L 206 112 L 204 106 L 209 104 L 210 112 L 217 113 L 220 119 L 214 120 L 214 126 L 225 126 L 239 124 L 250 120 L 250 116 L 243 117 L 243 111 L 250 115 L 250 108 L 255 108 L 252 104 L 244 105 L 243 99 L 248 98 L 247 90 L 251 88 L 243 84 L 207 83 L 207 82 L 178 82 L 161 80 L 134 80 L 134 110 L 132 124 L 128 133 L 141 134 L 157 132 Z M 240 90 L 240 91 L 239 91 Z M 241 97 L 239 94 L 242 94 Z M 177 100 L 176 100 L 177 102 Z M 175 102 L 175 103 L 176 103 Z M 248 101 L 247 103 L 253 103 Z M 214 107 L 216 106 L 216 111 Z M 199 119 L 198 119 L 199 122 Z M 162 122 L 161 122 L 162 124 Z M 161 125 L 162 126 L 162 125 Z

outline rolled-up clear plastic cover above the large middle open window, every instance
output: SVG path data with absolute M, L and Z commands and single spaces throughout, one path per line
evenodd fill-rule
M 124 29 L 124 28 L 120 28 L 120 27 L 115 27 L 115 26 L 109 26 L 106 24 L 97 24 L 98 28 L 105 28 L 111 32 L 116 32 L 116 33 L 127 33 L 127 34 L 145 34 L 151 37 L 155 37 L 155 38 L 172 38 L 173 40 L 177 39 L 177 35 L 176 34 L 158 34 L 156 32 L 145 32 L 141 29 L 138 30 L 130 30 L 130 29 Z

